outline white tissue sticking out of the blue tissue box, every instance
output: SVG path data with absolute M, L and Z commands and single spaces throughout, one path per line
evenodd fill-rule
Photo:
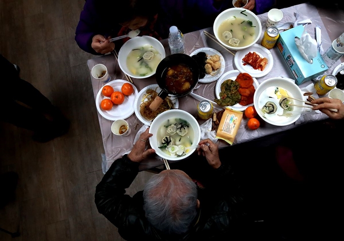
M 304 57 L 307 62 L 312 64 L 313 58 L 318 55 L 317 41 L 306 32 L 306 27 L 304 28 L 305 29 L 301 37 L 295 37 L 295 44 L 302 57 Z

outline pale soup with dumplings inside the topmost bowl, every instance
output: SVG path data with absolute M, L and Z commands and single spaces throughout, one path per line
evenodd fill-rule
M 219 26 L 218 35 L 221 42 L 233 47 L 247 46 L 253 43 L 256 37 L 252 22 L 238 17 L 231 17 L 223 21 Z M 239 43 L 236 45 L 236 41 L 233 39 L 238 39 Z

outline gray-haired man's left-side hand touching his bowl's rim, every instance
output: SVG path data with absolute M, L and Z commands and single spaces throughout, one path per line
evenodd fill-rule
M 139 140 L 135 143 L 132 151 L 128 154 L 128 158 L 131 159 L 132 162 L 140 163 L 143 159 L 155 152 L 154 149 L 145 150 L 146 141 L 148 141 L 149 137 L 153 136 L 153 134 L 148 132 L 149 128 L 147 128 L 146 131 L 140 135 Z

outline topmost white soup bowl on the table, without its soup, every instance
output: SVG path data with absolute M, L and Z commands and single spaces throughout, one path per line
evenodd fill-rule
M 244 10 L 246 10 L 246 11 L 243 13 L 246 14 L 247 16 L 241 14 L 241 12 Z M 255 29 L 255 39 L 251 44 L 249 44 L 247 46 L 243 46 L 243 47 L 233 47 L 233 46 L 224 44 L 220 40 L 219 34 L 218 34 L 218 29 L 219 29 L 221 23 L 223 21 L 227 20 L 228 18 L 233 17 L 233 16 L 249 20 L 252 22 L 252 25 L 255 26 L 255 28 L 254 28 Z M 214 21 L 213 31 L 214 31 L 214 35 L 216 36 L 218 41 L 223 46 L 225 46 L 226 48 L 228 48 L 230 50 L 243 50 L 243 49 L 246 49 L 246 48 L 252 46 L 253 44 L 255 44 L 258 41 L 258 39 L 260 38 L 261 33 L 262 33 L 262 24 L 261 24 L 261 21 L 259 20 L 259 18 L 253 12 L 251 12 L 247 9 L 243 9 L 243 8 L 231 8 L 231 9 L 227 9 L 227 10 L 223 11 L 222 13 L 220 13 L 218 15 L 218 17 Z

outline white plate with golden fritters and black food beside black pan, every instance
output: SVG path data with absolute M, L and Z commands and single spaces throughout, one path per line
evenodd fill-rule
M 200 48 L 190 54 L 200 65 L 200 83 L 216 81 L 225 72 L 226 62 L 222 54 L 211 48 Z

